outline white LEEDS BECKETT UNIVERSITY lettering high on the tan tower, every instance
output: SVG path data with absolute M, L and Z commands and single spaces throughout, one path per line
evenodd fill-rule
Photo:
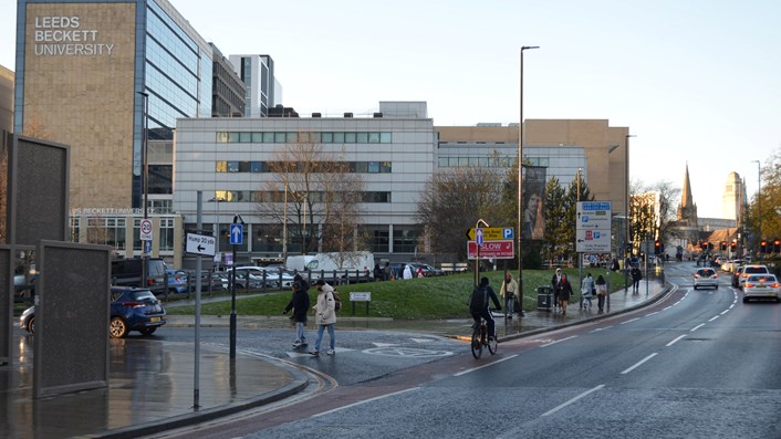
M 81 29 L 80 17 L 35 17 L 37 56 L 111 55 L 115 44 L 98 42 L 94 29 Z

